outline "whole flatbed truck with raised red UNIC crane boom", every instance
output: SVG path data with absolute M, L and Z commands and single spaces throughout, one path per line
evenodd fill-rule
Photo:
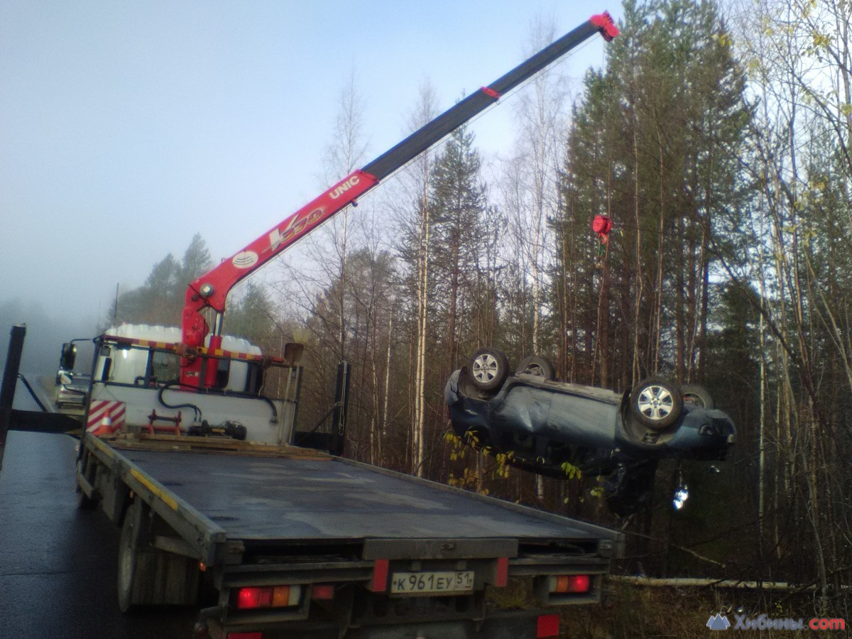
M 296 429 L 302 346 L 270 356 L 222 334 L 227 293 L 240 280 L 597 33 L 618 34 L 608 14 L 190 283 L 179 329 L 121 325 L 95 338 L 78 504 L 121 528 L 124 612 L 197 606 L 212 587 L 199 638 L 523 638 L 558 636 L 559 607 L 599 600 L 621 533 L 343 458 L 347 365 L 331 432 L 305 433 Z M 64 345 L 57 378 L 75 358 L 74 344 Z M 8 398 L 0 417 L 0 442 L 9 428 L 49 430 Z M 66 420 L 55 427 L 64 429 Z M 526 584 L 533 607 L 495 606 L 493 593 L 515 583 Z

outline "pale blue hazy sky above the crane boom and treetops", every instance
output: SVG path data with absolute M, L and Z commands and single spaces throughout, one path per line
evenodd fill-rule
M 450 107 L 523 59 L 536 20 L 561 35 L 604 9 L 618 19 L 565 0 L 3 0 L 0 309 L 21 316 L 0 317 L 0 341 L 33 304 L 94 330 L 116 285 L 194 233 L 219 260 L 313 199 L 353 70 L 369 161 L 425 81 Z M 603 49 L 561 72 L 579 85 Z M 509 152 L 509 117 L 477 121 L 484 153 Z

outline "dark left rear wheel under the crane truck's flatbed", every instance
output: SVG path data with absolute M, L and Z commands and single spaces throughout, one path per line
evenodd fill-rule
M 123 613 L 146 606 L 193 606 L 198 600 L 198 561 L 155 548 L 149 512 L 136 498 L 124 515 L 118 547 L 118 607 Z

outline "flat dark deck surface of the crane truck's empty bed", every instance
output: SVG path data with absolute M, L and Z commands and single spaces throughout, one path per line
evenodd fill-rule
M 221 448 L 212 449 L 213 454 L 169 452 L 165 447 L 142 450 L 121 440 L 112 447 L 126 463 L 168 486 L 175 498 L 191 504 L 211 524 L 227 522 L 229 538 L 364 543 L 377 537 L 449 534 L 585 544 L 590 531 L 604 530 L 295 446 L 246 446 L 246 451 L 254 452 L 248 455 L 222 455 Z M 265 456 L 265 448 L 274 450 Z M 449 531 L 446 516 L 458 513 L 465 516 Z M 280 521 L 287 521 L 287 526 L 280 527 Z

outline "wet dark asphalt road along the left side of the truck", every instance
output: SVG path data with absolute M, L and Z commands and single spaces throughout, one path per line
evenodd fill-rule
M 11 432 L 0 470 L 0 638 L 189 639 L 196 613 L 118 610 L 118 528 L 78 510 L 77 440 Z

